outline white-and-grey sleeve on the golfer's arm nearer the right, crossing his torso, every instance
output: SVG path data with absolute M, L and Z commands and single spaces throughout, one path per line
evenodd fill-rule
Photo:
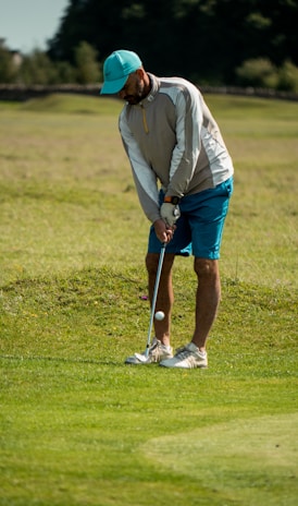
M 188 189 L 200 154 L 202 107 L 198 91 L 185 87 L 176 99 L 176 138 L 166 195 L 182 197 Z

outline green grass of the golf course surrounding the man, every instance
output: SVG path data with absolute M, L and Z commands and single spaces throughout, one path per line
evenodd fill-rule
M 294 506 L 298 105 L 207 96 L 235 161 L 206 371 L 147 338 L 148 224 L 119 101 L 0 103 L 0 505 Z M 189 339 L 191 260 L 174 269 Z

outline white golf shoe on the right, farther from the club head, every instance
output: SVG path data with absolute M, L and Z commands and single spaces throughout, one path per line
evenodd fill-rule
M 179 348 L 173 359 L 165 359 L 160 362 L 163 368 L 195 369 L 208 368 L 207 353 L 199 351 L 194 342 Z

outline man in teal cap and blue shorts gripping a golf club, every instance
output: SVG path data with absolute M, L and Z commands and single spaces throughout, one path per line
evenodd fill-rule
M 233 192 L 232 159 L 202 95 L 188 81 L 157 77 L 127 50 L 107 58 L 103 76 L 101 94 L 116 94 L 126 101 L 119 125 L 141 207 L 151 221 L 146 256 L 151 302 L 166 243 L 157 298 L 164 318 L 154 321 L 148 360 L 136 353 L 125 362 L 207 368 L 206 344 L 221 298 L 219 257 Z M 190 342 L 173 356 L 172 267 L 175 255 L 190 254 L 198 279 L 195 330 Z

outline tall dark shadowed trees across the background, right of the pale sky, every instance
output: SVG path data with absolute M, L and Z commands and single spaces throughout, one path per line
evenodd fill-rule
M 123 48 L 158 75 L 298 92 L 297 22 L 297 0 L 70 0 L 42 58 L 64 83 L 100 80 Z

